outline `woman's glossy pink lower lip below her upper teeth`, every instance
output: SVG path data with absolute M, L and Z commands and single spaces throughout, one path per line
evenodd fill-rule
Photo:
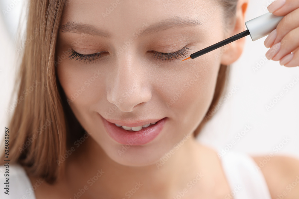
M 133 146 L 144 145 L 155 139 L 162 131 L 167 118 L 157 121 L 156 124 L 150 125 L 147 128 L 142 128 L 140 131 L 127 131 L 115 124 L 107 121 L 100 115 L 105 129 L 109 136 L 120 144 L 129 144 Z

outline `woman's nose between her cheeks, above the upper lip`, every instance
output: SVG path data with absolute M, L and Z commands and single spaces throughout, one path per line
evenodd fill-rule
M 115 65 L 112 66 L 110 84 L 107 91 L 107 100 L 115 104 L 123 112 L 131 112 L 138 104 L 148 102 L 152 93 L 146 70 L 134 59 L 133 56 L 123 52 L 115 58 Z

